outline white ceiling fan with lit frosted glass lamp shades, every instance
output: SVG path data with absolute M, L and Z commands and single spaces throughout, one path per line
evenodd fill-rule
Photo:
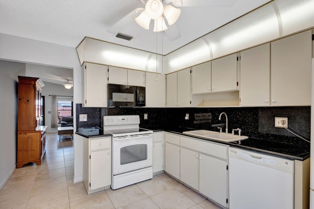
M 127 25 L 136 21 L 140 26 L 149 29 L 151 20 L 154 20 L 154 32 L 164 32 L 170 41 L 181 37 L 175 24 L 181 10 L 177 7 L 229 7 L 236 0 L 140 0 L 145 8 L 136 8 L 117 23 L 107 29 L 109 33 L 118 33 Z M 170 5 L 170 4 L 173 4 Z M 167 20 L 168 26 L 164 19 Z

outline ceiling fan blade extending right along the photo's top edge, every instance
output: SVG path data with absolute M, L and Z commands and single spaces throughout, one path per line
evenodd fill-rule
M 235 4 L 236 0 L 173 0 L 173 4 L 177 6 L 195 6 L 195 7 L 229 7 Z M 182 4 L 182 5 L 180 5 Z

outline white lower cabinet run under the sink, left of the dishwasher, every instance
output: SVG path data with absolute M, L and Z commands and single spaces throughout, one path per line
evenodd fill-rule
M 228 207 L 228 146 L 165 133 L 165 171 Z

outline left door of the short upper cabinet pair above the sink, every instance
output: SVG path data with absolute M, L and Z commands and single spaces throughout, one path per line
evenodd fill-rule
M 192 67 L 192 94 L 211 92 L 211 62 Z

